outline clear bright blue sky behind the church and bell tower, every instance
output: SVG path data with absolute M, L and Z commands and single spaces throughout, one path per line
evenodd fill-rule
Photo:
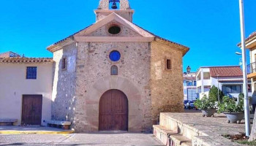
M 0 53 L 52 57 L 48 45 L 95 22 L 99 0 L 8 0 L 0 5 Z M 190 47 L 187 66 L 238 65 L 238 0 L 129 0 L 134 23 Z M 256 31 L 256 1 L 244 0 L 246 37 Z M 249 58 L 248 58 L 249 59 Z

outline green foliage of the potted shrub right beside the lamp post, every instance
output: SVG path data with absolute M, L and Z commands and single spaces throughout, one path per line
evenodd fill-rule
M 236 104 L 235 99 L 229 96 L 224 96 L 222 102 L 218 104 L 218 112 L 244 112 L 244 98 L 240 98 L 239 103 Z

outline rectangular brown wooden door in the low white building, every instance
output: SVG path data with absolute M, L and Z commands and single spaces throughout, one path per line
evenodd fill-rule
M 23 95 L 22 124 L 41 125 L 42 95 Z

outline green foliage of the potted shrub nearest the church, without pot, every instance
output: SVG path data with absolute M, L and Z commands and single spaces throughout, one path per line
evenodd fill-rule
M 197 99 L 195 101 L 195 107 L 200 110 L 207 110 L 207 109 L 214 109 L 215 108 L 215 101 L 208 99 L 207 96 L 203 96 L 203 99 Z

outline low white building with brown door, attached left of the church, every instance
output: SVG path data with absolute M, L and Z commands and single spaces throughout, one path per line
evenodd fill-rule
M 0 54 L 0 118 L 15 125 L 45 125 L 51 119 L 53 59 Z

